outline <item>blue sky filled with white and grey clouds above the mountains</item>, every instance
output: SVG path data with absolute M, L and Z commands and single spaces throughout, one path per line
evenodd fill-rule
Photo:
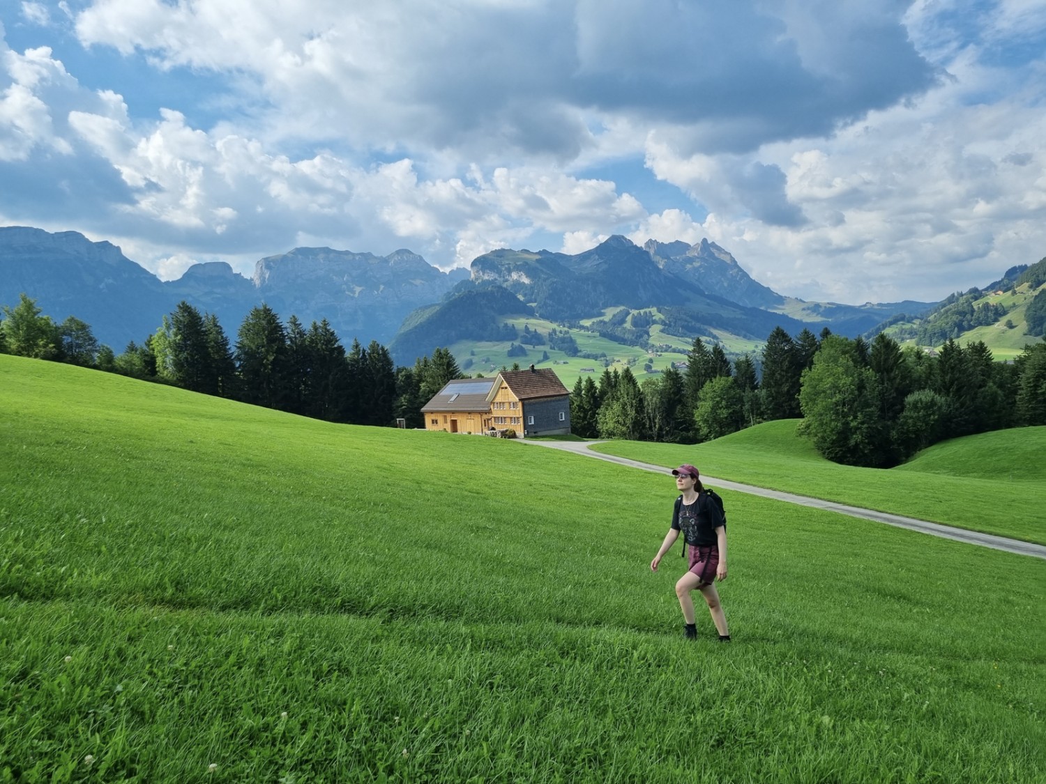
M 174 278 L 611 234 L 781 294 L 1046 255 L 1042 0 L 0 0 L 0 225 Z

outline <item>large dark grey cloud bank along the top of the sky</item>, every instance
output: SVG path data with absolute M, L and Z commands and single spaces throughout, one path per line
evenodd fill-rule
M 572 160 L 617 115 L 674 123 L 691 151 L 750 151 L 936 78 L 890 0 L 95 0 L 76 32 L 163 67 L 253 73 L 279 132 L 474 157 Z

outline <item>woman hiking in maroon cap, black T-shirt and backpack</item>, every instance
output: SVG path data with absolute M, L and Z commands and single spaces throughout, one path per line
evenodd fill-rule
M 672 474 L 676 478 L 676 489 L 682 494 L 676 499 L 672 527 L 661 543 L 661 549 L 651 561 L 651 569 L 657 572 L 661 558 L 682 531 L 684 541 L 690 546 L 689 570 L 676 582 L 676 596 L 679 597 L 679 605 L 683 608 L 685 622 L 683 636 L 687 640 L 696 640 L 698 637 L 698 627 L 693 619 L 693 600 L 690 598 L 690 592 L 697 589 L 708 604 L 708 612 L 719 631 L 720 642 L 728 643 L 730 632 L 714 584 L 715 580 L 726 579 L 726 521 L 719 505 L 705 492 L 697 468 L 684 464 L 674 468 Z

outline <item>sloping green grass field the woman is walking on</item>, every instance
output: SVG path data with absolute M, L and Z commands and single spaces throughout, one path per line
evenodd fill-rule
M 1042 780 L 1041 561 L 723 494 L 686 643 L 668 477 L 0 355 L 0 781 Z

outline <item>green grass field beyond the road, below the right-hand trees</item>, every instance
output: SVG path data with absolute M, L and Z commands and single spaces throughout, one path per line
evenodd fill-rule
M 697 445 L 608 441 L 595 452 L 655 465 L 692 463 L 710 477 L 1046 545 L 1046 428 L 1015 428 L 935 444 L 890 469 L 837 465 L 765 422 Z

